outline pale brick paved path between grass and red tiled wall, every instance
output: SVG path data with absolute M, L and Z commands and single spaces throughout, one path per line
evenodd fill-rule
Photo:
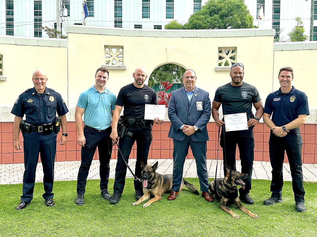
M 135 159 L 129 160 L 129 165 L 134 172 Z M 158 173 L 168 174 L 173 172 L 172 159 L 149 159 L 148 164 L 152 165 L 159 161 Z M 110 161 L 110 179 L 114 179 L 117 160 Z M 215 177 L 217 160 L 207 160 L 209 178 Z M 55 162 L 55 181 L 77 180 L 77 173 L 80 161 L 59 161 Z M 218 161 L 217 178 L 223 177 L 223 162 Z M 238 170 L 241 170 L 240 161 L 236 162 Z M 317 164 L 303 164 L 304 181 L 317 182 Z M 24 164 L 2 164 L 0 165 L 0 184 L 19 184 L 23 181 Z M 127 170 L 126 177 L 133 177 Z M 184 177 L 197 178 L 196 163 L 194 159 L 187 159 L 184 165 Z M 283 166 L 283 177 L 285 181 L 291 181 L 291 174 L 288 163 Z M 254 161 L 252 179 L 271 179 L 271 165 L 265 161 Z M 94 160 L 90 167 L 88 179 L 100 179 L 99 161 Z M 36 169 L 36 182 L 43 182 L 43 167 L 39 163 Z

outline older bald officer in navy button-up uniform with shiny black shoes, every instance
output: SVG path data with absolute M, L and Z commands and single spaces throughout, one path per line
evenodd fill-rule
M 59 144 L 67 143 L 68 112 L 65 101 L 60 94 L 46 87 L 47 76 L 43 70 L 33 73 L 33 88 L 23 92 L 16 100 L 12 114 L 14 141 L 16 150 L 22 149 L 19 139 L 20 128 L 23 133 L 24 166 L 23 195 L 16 210 L 24 209 L 33 198 L 36 166 L 40 154 L 43 165 L 43 183 L 45 193 L 42 195 L 48 207 L 54 206 L 53 181 L 56 153 L 56 137 L 61 126 L 63 134 Z M 56 117 L 56 112 L 60 117 Z M 25 120 L 22 120 L 23 116 Z

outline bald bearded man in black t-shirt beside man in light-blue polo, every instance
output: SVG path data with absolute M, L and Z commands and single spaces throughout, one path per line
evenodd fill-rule
M 113 197 L 110 199 L 110 204 L 117 204 L 123 192 L 126 178 L 126 164 L 128 163 L 131 149 L 134 143 L 137 143 L 137 154 L 135 164 L 135 176 L 141 177 L 141 161 L 147 164 L 147 157 L 152 142 L 152 125 L 163 123 L 159 118 L 153 120 L 144 119 L 145 105 L 157 105 L 156 94 L 154 90 L 144 84 L 147 75 L 144 68 L 137 68 L 133 73 L 134 82 L 120 89 L 112 120 L 111 139 L 113 145 L 118 141 L 117 126 L 120 112 L 124 106 L 123 125 L 126 126 L 133 135 L 121 137 L 119 140 L 119 148 L 122 152 L 118 152 L 118 161 L 116 165 L 115 180 L 113 185 Z M 142 183 L 139 180 L 134 180 L 135 198 L 139 200 L 143 196 Z

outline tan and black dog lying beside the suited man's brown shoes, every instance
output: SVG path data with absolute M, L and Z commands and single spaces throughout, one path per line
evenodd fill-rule
M 157 161 L 153 166 L 146 165 L 144 161 L 141 161 L 142 168 L 142 178 L 143 178 L 143 193 L 144 195 L 132 205 L 139 205 L 141 202 L 149 199 L 151 195 L 155 196 L 150 199 L 143 207 L 148 207 L 152 203 L 162 199 L 162 195 L 166 192 L 170 192 L 173 185 L 172 174 L 159 174 L 156 173 L 159 162 Z M 183 189 L 183 186 L 186 186 L 189 190 L 193 191 L 195 194 L 199 195 L 197 188 L 187 182 L 185 179 L 182 180 L 179 191 Z

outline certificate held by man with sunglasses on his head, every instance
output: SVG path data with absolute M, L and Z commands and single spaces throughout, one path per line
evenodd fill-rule
M 248 130 L 247 113 L 234 113 L 223 115 L 226 123 L 226 132 Z

